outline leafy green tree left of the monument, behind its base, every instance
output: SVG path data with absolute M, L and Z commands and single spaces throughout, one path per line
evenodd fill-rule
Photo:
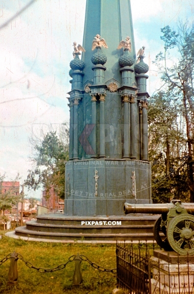
M 54 186 L 60 198 L 65 197 L 65 163 L 69 159 L 69 129 L 63 125 L 63 132 L 57 137 L 56 132 L 49 132 L 40 143 L 35 144 L 36 155 L 32 159 L 35 167 L 28 171 L 25 185 L 28 189 L 37 190 L 44 187 L 49 198 L 49 189 Z

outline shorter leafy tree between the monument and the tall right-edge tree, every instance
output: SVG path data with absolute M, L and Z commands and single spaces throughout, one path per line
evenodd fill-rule
M 148 105 L 149 159 L 152 162 L 152 198 L 155 203 L 173 198 L 188 200 L 185 145 L 180 99 L 159 92 Z

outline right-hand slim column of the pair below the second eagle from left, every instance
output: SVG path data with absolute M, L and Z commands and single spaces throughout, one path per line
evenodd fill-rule
M 104 103 L 106 94 L 98 94 L 100 101 L 100 132 L 99 132 L 99 157 L 105 158 L 105 129 L 104 129 Z

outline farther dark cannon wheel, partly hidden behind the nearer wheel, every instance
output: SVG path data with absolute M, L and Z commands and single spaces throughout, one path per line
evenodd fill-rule
M 170 247 L 167 238 L 163 241 L 160 232 L 163 232 L 165 236 L 167 235 L 167 230 L 166 227 L 163 226 L 162 229 L 160 227 L 162 221 L 162 217 L 160 217 L 157 221 L 155 221 L 154 228 L 153 228 L 153 233 L 154 233 L 154 239 L 156 240 L 156 243 L 166 251 L 171 251 L 172 248 Z

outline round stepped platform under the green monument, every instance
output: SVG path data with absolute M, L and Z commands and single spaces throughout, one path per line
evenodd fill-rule
M 47 240 L 77 240 L 111 243 L 122 241 L 153 241 L 153 226 L 158 216 L 68 217 L 58 214 L 37 216 L 17 227 L 20 237 Z

